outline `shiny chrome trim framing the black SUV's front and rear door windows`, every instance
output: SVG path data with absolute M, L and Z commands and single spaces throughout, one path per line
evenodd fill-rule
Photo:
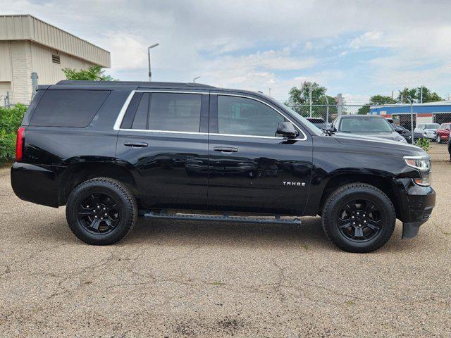
M 302 130 L 297 123 L 294 123 L 292 119 L 288 118 L 287 115 L 280 112 L 280 110 L 271 104 L 267 104 L 265 101 L 262 101 L 260 99 L 257 99 L 255 97 L 245 95 L 245 94 L 234 94 L 234 93 L 227 93 L 227 92 L 196 92 L 196 91 L 174 91 L 174 90 L 132 90 L 130 94 L 128 95 L 127 99 L 125 99 L 125 102 L 121 108 L 121 111 L 119 111 L 118 117 L 116 118 L 116 122 L 113 125 L 113 130 L 117 131 L 125 131 L 125 132 L 159 132 L 159 133 L 171 133 L 171 134 L 194 134 L 194 135 L 216 135 L 216 136 L 226 136 L 226 137 L 251 137 L 251 138 L 259 138 L 259 139 L 283 139 L 283 137 L 273 137 L 273 136 L 259 136 L 259 135 L 240 135 L 240 134 L 220 134 L 218 132 L 179 132 L 175 130 L 143 130 L 143 129 L 128 129 L 128 128 L 121 128 L 121 124 L 123 121 L 123 118 L 125 117 L 125 113 L 127 112 L 128 106 L 130 105 L 130 101 L 132 101 L 133 96 L 137 92 L 144 92 L 144 93 L 175 93 L 175 94 L 200 94 L 200 95 L 223 95 L 223 96 L 237 96 L 237 97 L 243 97 L 245 99 L 251 99 L 254 101 L 259 101 L 262 104 L 266 104 L 269 108 L 273 109 L 280 115 L 282 115 L 284 118 L 286 118 L 290 123 L 292 123 L 297 130 L 299 130 L 300 133 L 302 133 L 302 138 L 296 138 L 293 140 L 296 141 L 305 141 L 307 139 L 307 134 Z M 202 111 L 201 111 L 202 115 Z

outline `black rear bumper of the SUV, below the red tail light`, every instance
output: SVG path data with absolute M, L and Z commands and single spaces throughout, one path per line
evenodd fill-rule
M 24 201 L 58 207 L 59 173 L 63 167 L 14 163 L 11 167 L 11 187 Z

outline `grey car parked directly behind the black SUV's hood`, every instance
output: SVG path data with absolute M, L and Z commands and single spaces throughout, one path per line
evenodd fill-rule
M 407 142 L 380 115 L 342 115 L 333 121 L 333 130 L 380 139 Z

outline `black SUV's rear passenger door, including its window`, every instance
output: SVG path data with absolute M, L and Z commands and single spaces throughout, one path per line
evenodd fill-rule
M 116 121 L 117 157 L 146 208 L 206 208 L 208 92 L 136 91 Z

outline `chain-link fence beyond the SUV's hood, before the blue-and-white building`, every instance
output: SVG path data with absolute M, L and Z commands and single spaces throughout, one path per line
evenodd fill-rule
M 408 142 L 421 138 L 429 140 L 428 154 L 432 161 L 450 161 L 451 104 L 369 105 L 302 105 L 291 106 L 304 118 L 323 119 L 330 127 L 338 115 L 381 115 L 393 124 Z M 319 122 L 321 120 L 316 120 Z M 412 143 L 412 142 L 411 142 Z

